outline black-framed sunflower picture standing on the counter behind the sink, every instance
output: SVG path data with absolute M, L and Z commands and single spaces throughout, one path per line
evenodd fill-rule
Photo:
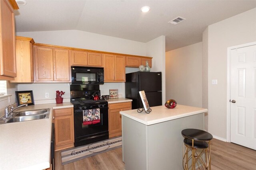
M 22 104 L 34 105 L 33 91 L 15 91 L 18 106 Z

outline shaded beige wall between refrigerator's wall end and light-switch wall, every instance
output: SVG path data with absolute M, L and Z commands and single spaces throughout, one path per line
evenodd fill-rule
M 202 107 L 202 42 L 166 52 L 166 100 Z

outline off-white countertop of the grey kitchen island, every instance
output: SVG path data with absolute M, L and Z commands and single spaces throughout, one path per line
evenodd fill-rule
M 178 119 L 181 117 L 186 117 L 190 115 L 195 115 L 198 113 L 204 113 L 208 111 L 208 109 L 199 108 L 199 107 L 191 107 L 184 105 L 177 105 L 173 109 L 168 109 L 165 106 L 155 106 L 150 107 L 152 111 L 150 113 L 138 113 L 137 109 L 120 111 L 120 114 L 144 125 L 153 125 L 156 123 L 161 123 L 164 121 L 170 121 L 173 119 Z

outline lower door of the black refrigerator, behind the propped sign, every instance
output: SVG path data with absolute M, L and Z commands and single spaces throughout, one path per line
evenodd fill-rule
M 145 92 L 149 107 L 162 106 L 162 92 Z M 139 94 L 140 95 L 140 94 Z M 140 96 L 139 96 L 140 98 Z M 143 104 L 140 98 L 140 108 L 143 108 Z M 137 109 L 137 108 L 132 108 Z

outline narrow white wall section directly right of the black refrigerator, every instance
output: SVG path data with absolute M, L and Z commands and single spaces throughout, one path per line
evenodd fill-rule
M 165 36 L 157 37 L 146 43 L 146 56 L 153 57 L 151 72 L 162 72 L 162 104 L 166 102 L 165 84 Z M 152 82 L 157 83 L 157 82 Z

